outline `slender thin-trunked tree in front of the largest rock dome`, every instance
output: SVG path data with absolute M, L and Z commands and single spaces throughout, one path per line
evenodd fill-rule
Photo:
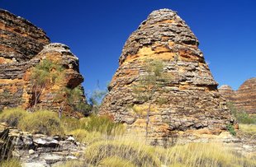
M 149 103 L 146 114 L 145 137 L 148 137 L 149 114 L 151 112 L 151 104 L 157 103 L 158 98 L 154 98 L 156 91 L 163 92 L 162 89 L 168 83 L 168 75 L 164 73 L 164 63 L 161 60 L 145 60 L 145 75 L 140 77 L 139 83 L 134 87 L 133 91 L 136 98 L 143 103 Z M 167 101 L 167 100 L 164 100 Z

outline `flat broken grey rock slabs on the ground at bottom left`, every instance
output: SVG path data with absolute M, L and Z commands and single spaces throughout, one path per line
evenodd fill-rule
M 0 137 L 0 160 L 15 157 L 22 166 L 60 166 L 66 161 L 82 158 L 85 149 L 72 136 L 31 134 L 3 123 L 0 123 Z

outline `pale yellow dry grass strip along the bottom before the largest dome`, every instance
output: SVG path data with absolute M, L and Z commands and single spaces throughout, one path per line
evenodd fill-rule
M 220 143 L 190 143 L 168 148 L 147 146 L 144 139 L 115 137 L 88 146 L 85 159 L 89 165 L 112 163 L 110 166 L 254 166 L 246 158 Z M 138 142 L 140 141 L 140 142 Z

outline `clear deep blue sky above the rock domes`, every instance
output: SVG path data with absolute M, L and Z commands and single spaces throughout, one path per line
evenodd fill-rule
M 130 33 L 153 10 L 170 8 L 200 41 L 220 85 L 237 89 L 256 77 L 256 0 L 0 0 L 0 7 L 39 26 L 80 59 L 87 92 L 104 87 Z

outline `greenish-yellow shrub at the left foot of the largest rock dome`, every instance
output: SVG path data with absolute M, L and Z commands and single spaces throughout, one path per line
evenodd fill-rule
M 102 132 L 105 134 L 111 134 L 113 132 L 122 132 L 123 127 L 119 123 L 114 123 L 108 116 L 96 116 L 92 115 L 88 118 L 80 120 L 81 128 L 84 128 L 88 132 Z

